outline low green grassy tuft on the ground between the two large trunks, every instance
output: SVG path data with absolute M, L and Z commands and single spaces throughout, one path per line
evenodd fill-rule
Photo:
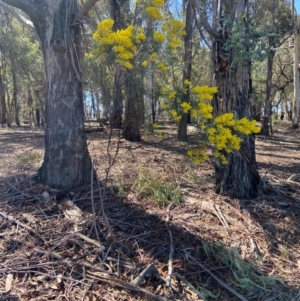
M 180 202 L 182 200 L 182 193 L 176 186 L 143 169 L 139 170 L 133 189 L 141 196 L 152 199 L 158 206 L 165 206 L 170 201 Z

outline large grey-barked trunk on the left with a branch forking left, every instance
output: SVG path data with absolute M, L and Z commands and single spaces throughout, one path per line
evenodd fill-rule
M 45 65 L 45 156 L 38 180 L 53 188 L 90 182 L 84 132 L 80 22 L 76 0 L 3 0 L 28 14 Z

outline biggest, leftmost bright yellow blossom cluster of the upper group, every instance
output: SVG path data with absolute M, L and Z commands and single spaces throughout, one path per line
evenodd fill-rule
M 113 31 L 114 21 L 107 19 L 98 23 L 93 39 L 98 43 L 98 52 L 106 56 L 111 50 L 115 61 L 127 69 L 132 69 L 131 60 L 134 58 L 137 46 L 146 40 L 142 28 L 134 33 L 134 27 L 129 25 L 124 29 Z

